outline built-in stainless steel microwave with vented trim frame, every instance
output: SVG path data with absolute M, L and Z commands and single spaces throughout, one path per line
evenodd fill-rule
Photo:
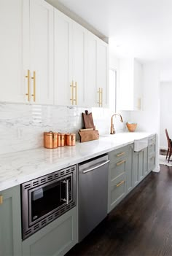
M 76 205 L 76 166 L 21 185 L 23 239 Z

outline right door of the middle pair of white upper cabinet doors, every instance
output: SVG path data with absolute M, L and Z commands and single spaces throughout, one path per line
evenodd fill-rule
M 86 39 L 87 30 L 73 22 L 72 74 L 74 80 L 74 105 L 86 106 Z

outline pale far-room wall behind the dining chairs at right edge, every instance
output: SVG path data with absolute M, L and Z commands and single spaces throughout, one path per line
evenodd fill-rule
M 167 150 L 168 143 L 165 128 L 172 138 L 172 81 L 160 83 L 160 149 Z

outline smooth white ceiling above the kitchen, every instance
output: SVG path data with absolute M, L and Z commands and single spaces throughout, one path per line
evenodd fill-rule
M 172 58 L 172 0 L 58 1 L 109 37 L 112 53 L 141 60 Z

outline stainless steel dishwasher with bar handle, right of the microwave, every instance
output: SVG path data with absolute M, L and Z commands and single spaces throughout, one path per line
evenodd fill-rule
M 79 164 L 79 241 L 107 215 L 108 155 Z

